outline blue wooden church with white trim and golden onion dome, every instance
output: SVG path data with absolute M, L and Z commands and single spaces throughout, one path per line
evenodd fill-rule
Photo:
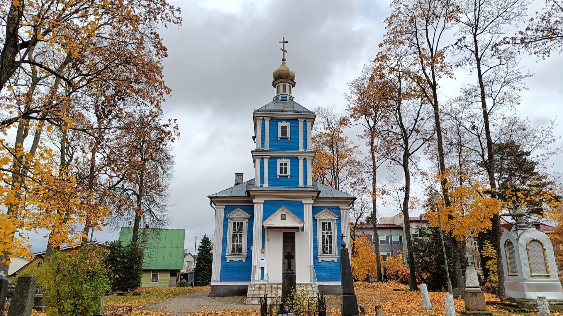
M 287 41 L 280 42 L 285 45 Z M 339 295 L 342 235 L 355 197 L 312 181 L 315 113 L 294 100 L 295 73 L 274 70 L 274 100 L 253 112 L 256 174 L 209 195 L 215 208 L 211 296 L 279 295 L 285 254 L 293 254 L 298 289 Z

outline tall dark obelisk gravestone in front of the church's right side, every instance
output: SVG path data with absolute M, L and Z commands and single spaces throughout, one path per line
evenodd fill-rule
M 350 254 L 345 242 L 342 242 L 342 248 L 340 249 L 340 278 L 342 280 L 340 314 L 342 316 L 358 316 L 358 299 L 354 294 L 354 278 L 352 278 Z

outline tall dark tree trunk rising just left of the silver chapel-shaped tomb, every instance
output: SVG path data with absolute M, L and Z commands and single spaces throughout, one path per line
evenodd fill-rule
M 483 82 L 483 74 L 481 70 L 481 59 L 479 57 L 479 42 L 477 42 L 477 35 L 473 34 L 473 44 L 475 45 L 475 64 L 477 66 L 477 80 L 479 81 L 479 90 L 481 93 L 481 108 L 483 114 L 483 125 L 485 125 L 485 138 L 487 141 L 487 159 L 485 169 L 489 175 L 489 186 L 491 198 L 497 198 L 497 182 L 494 178 L 494 160 L 493 160 L 493 138 L 491 137 L 489 112 L 487 110 L 487 102 L 485 97 L 485 84 Z M 497 213 L 494 214 L 491 220 L 491 234 L 493 235 L 491 241 L 493 247 L 497 252 L 497 273 L 498 273 L 498 296 L 504 296 L 504 269 L 502 267 L 502 251 L 501 251 L 501 216 Z

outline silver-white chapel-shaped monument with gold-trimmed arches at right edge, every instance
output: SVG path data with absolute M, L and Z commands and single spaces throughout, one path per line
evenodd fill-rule
M 561 304 L 563 292 L 557 276 L 553 245 L 549 237 L 528 223 L 525 211 L 516 203 L 516 225 L 501 237 L 504 270 L 503 301 L 535 305 L 538 296 L 550 304 Z

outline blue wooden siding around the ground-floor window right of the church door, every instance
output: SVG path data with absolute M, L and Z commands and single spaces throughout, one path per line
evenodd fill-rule
M 340 223 L 341 214 L 340 207 L 338 206 L 313 206 L 313 216 L 324 209 L 329 209 L 334 214 L 338 215 L 336 221 L 336 248 L 335 252 L 338 254 L 337 262 L 334 261 L 320 261 L 317 258 L 318 240 L 317 240 L 317 222 L 316 219 L 313 220 L 313 266 L 315 267 L 315 273 L 319 281 L 340 281 L 340 244 L 342 243 L 342 227 Z

